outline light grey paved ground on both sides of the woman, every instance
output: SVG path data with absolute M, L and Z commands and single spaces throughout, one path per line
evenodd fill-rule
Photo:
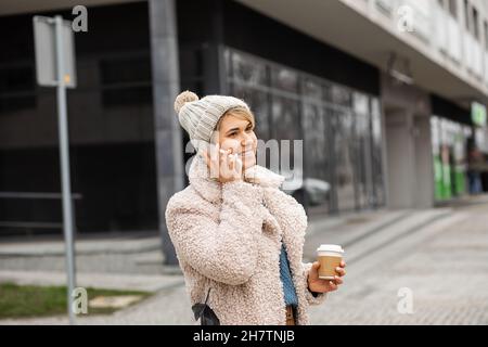
M 312 259 L 314 248 L 322 242 L 345 245 L 348 274 L 346 283 L 331 293 L 326 304 L 311 309 L 313 324 L 488 324 L 486 197 L 453 208 L 377 211 L 314 221 L 307 236 L 305 258 Z M 21 271 L 8 270 L 3 259 L 1 262 L 0 281 L 5 271 L 13 277 L 21 273 L 22 278 Z M 99 284 L 107 283 L 106 271 L 97 275 Z M 92 279 L 97 275 L 92 274 Z M 125 279 L 130 281 L 132 277 L 126 273 Z M 118 281 L 116 278 L 114 282 Z M 152 281 L 162 281 L 162 286 L 151 286 Z M 141 275 L 139 282 L 149 284 L 156 294 L 111 316 L 80 317 L 78 323 L 192 324 L 181 275 L 151 273 Z M 398 311 L 404 293 L 412 297 L 411 313 Z M 67 321 L 64 317 L 0 321 L 18 323 Z

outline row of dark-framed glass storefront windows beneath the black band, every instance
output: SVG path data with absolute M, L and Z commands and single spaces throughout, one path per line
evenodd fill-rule
M 233 49 L 223 54 L 229 90 L 251 105 L 258 138 L 303 140 L 303 157 L 291 142 L 287 169 L 301 183 L 288 193 L 309 214 L 384 204 L 376 98 Z

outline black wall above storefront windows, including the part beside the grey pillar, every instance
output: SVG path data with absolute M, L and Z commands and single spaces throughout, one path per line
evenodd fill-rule
M 224 44 L 378 95 L 378 70 L 235 1 L 178 1 L 182 88 L 205 91 L 205 52 Z M 214 66 L 214 68 L 217 68 Z

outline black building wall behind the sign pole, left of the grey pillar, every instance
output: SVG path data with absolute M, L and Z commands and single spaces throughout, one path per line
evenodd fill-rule
M 0 191 L 60 192 L 55 89 L 36 83 L 33 15 L 0 17 Z M 88 15 L 88 33 L 75 35 L 78 86 L 67 93 L 77 228 L 156 230 L 147 3 Z M 0 221 L 61 218 L 60 202 L 0 200 Z

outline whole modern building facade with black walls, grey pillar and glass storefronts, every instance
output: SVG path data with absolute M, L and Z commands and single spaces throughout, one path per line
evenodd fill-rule
M 73 18 L 75 4 L 0 4 L 0 234 L 51 232 L 61 220 L 60 201 L 39 195 L 59 192 L 60 177 L 55 95 L 36 85 L 31 17 Z M 194 154 L 172 111 L 184 89 L 246 100 L 265 141 L 303 141 L 301 184 L 290 193 L 310 218 L 466 192 L 463 146 L 486 133 L 471 117 L 473 102 L 488 102 L 484 1 L 86 5 L 68 92 L 79 232 L 159 230 L 176 260 L 164 209 Z

